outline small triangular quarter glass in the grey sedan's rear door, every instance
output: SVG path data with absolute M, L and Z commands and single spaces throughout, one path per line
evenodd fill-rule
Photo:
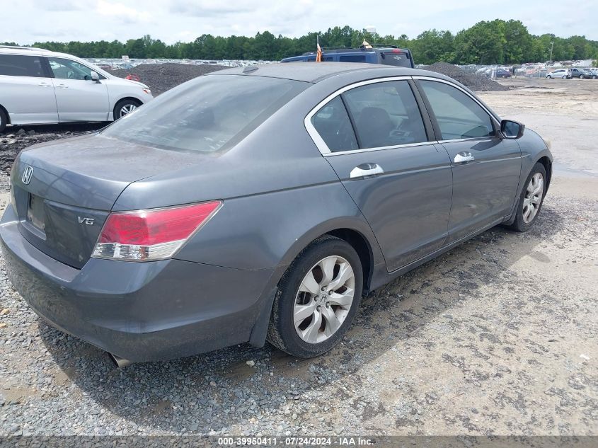
M 330 151 L 350 151 L 358 148 L 351 120 L 340 96 L 328 101 L 323 108 L 318 110 L 311 117 L 311 124 L 314 125 Z

